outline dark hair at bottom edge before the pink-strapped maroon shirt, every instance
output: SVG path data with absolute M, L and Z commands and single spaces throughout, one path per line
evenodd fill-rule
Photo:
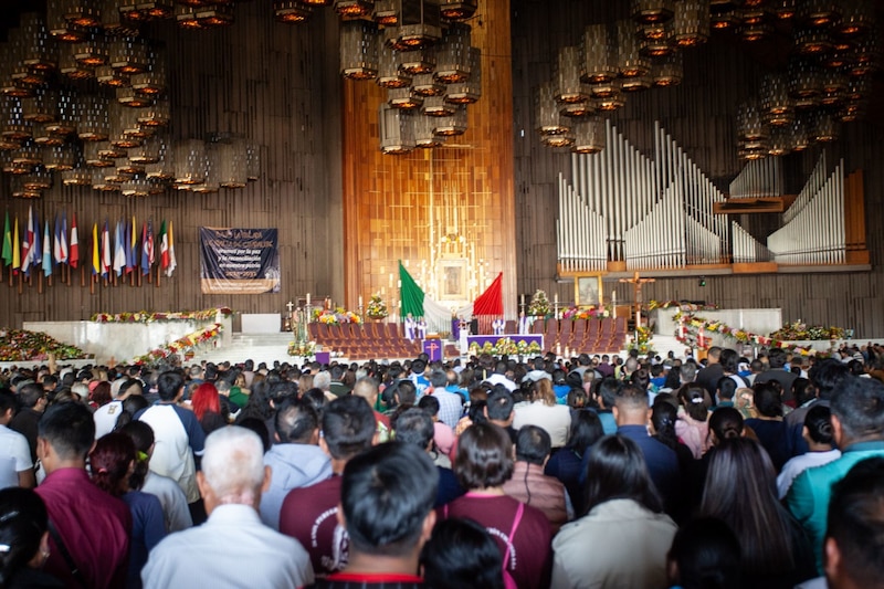
M 432 589 L 504 589 L 497 543 L 472 519 L 440 519 L 421 553 L 423 578 Z

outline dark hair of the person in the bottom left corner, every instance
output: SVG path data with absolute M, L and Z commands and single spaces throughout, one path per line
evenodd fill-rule
M 0 544 L 6 547 L 0 551 L 0 587 L 10 587 L 15 574 L 40 550 L 48 520 L 46 505 L 34 491 L 0 490 Z

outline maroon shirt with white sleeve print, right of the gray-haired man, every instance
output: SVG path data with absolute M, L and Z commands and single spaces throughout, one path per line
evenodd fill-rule
M 306 548 L 316 575 L 344 570 L 349 536 L 338 526 L 341 477 L 332 475 L 315 485 L 293 488 L 280 511 L 280 532 Z

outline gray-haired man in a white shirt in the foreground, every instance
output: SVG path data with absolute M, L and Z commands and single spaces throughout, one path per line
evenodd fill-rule
M 167 536 L 141 570 L 146 589 L 167 587 L 304 587 L 309 557 L 297 540 L 261 523 L 261 493 L 270 486 L 261 439 L 230 427 L 206 439 L 197 483 L 206 524 Z

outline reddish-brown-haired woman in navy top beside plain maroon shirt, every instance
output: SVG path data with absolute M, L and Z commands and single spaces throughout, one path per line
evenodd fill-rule
M 162 505 L 156 496 L 138 491 L 147 474 L 147 456 L 143 460 L 141 454 L 135 451 L 131 438 L 114 432 L 95 442 L 90 453 L 90 465 L 92 482 L 129 506 L 131 536 L 126 586 L 141 587 L 141 568 L 147 564 L 147 555 L 166 537 Z

